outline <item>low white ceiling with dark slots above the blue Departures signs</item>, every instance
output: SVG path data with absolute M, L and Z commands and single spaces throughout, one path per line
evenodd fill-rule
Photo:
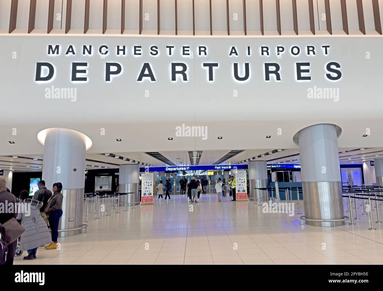
M 238 164 L 241 162 L 247 163 L 248 159 L 271 152 L 273 150 L 277 149 L 244 150 L 221 164 Z M 230 151 L 231 150 L 202 151 L 199 164 L 211 165 Z M 138 161 L 140 164 L 144 163 L 157 167 L 166 166 L 164 162 L 143 152 L 121 152 L 113 154 L 122 156 L 124 159 L 114 158 L 113 156 L 105 156 L 105 153 L 87 153 L 86 169 L 118 169 L 119 165 L 122 164 L 134 164 L 134 162 L 129 162 L 129 159 Z M 177 166 L 190 165 L 188 151 L 161 151 L 160 154 L 175 163 Z M 18 155 L 16 154 L 15 156 Z M 363 163 L 364 161 L 371 161 L 378 157 L 383 157 L 383 148 L 365 148 L 364 150 L 360 150 L 360 148 L 339 148 L 340 164 Z M 126 160 L 126 158 L 128 158 L 128 160 Z M 244 162 L 244 160 L 246 160 L 246 162 Z M 295 149 L 277 151 L 272 154 L 267 154 L 264 157 L 259 157 L 257 160 L 268 161 L 268 164 L 300 164 L 299 151 Z M 40 172 L 42 171 L 42 167 L 43 155 L 20 155 L 18 158 L 0 156 L 0 169 L 2 170 L 14 170 L 15 172 Z

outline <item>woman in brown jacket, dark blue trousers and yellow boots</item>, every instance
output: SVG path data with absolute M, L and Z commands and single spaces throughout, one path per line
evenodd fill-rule
M 59 221 L 62 216 L 62 184 L 60 182 L 53 184 L 53 195 L 49 198 L 45 206 L 45 213 L 48 216 L 49 226 L 51 227 L 52 242 L 46 245 L 47 250 L 54 250 L 57 248 L 57 237 L 59 237 Z

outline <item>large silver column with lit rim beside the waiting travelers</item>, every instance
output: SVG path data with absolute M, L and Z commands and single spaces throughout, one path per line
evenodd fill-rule
M 48 189 L 61 182 L 63 195 L 59 236 L 82 233 L 85 151 L 92 146 L 84 134 L 67 128 L 48 128 L 38 134 L 44 145 L 43 176 Z

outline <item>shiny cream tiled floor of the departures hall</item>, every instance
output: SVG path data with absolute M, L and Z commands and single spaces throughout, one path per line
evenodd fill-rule
M 60 250 L 39 247 L 36 260 L 24 261 L 25 252 L 15 264 L 383 264 L 383 225 L 368 230 L 360 202 L 358 211 L 355 226 L 314 227 L 300 215 L 263 213 L 252 201 L 219 203 L 216 195 L 201 195 L 200 203 L 189 204 L 185 195 L 173 195 L 100 219 L 90 211 L 87 233 L 59 238 Z

